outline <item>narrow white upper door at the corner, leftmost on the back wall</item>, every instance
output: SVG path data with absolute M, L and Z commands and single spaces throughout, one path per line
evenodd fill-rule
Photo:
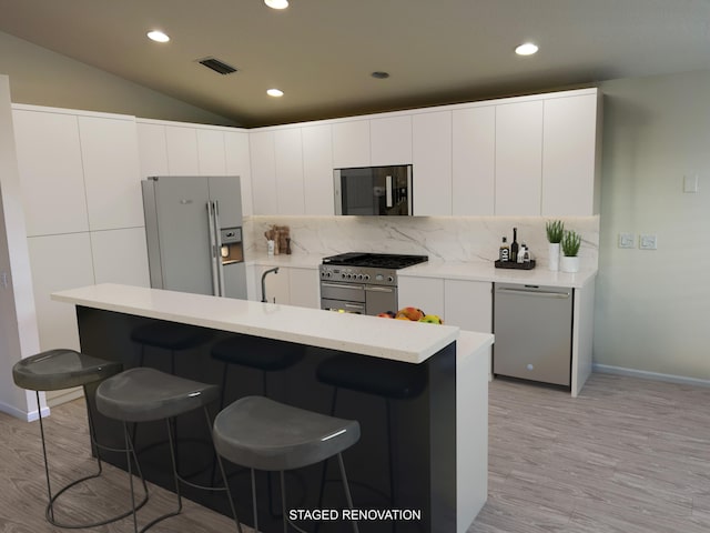
M 274 133 L 272 131 L 250 133 L 248 141 L 254 214 L 275 214 L 278 212 L 278 202 L 276 201 Z

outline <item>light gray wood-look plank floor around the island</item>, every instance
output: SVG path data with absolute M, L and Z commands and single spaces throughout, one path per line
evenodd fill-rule
M 47 431 L 55 479 L 93 466 L 81 400 L 53 408 Z M 37 423 L 0 413 L 2 533 L 64 531 L 44 521 L 38 433 Z M 489 443 L 488 502 L 469 533 L 710 532 L 710 389 L 594 374 L 572 399 L 496 380 Z M 105 472 L 72 496 L 73 513 L 111 513 L 126 501 L 125 473 L 110 465 Z M 172 504 L 172 494 L 151 486 L 141 523 Z M 225 533 L 234 525 L 186 502 L 182 515 L 151 531 Z

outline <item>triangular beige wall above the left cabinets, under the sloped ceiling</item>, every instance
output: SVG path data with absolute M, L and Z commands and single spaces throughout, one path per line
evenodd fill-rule
M 10 77 L 13 103 L 239 125 L 227 118 L 1 31 L 0 72 Z

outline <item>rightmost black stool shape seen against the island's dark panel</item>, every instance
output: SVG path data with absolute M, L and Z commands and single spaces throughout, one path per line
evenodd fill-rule
M 333 386 L 331 415 L 335 414 L 338 389 L 347 389 L 373 394 L 385 400 L 387 416 L 387 462 L 389 475 L 389 504 L 396 505 L 395 464 L 396 443 L 392 432 L 393 400 L 408 400 L 418 396 L 427 385 L 426 368 L 420 364 L 373 359 L 364 355 L 334 355 L 318 364 L 316 378 L 320 382 Z M 321 496 L 325 485 L 326 466 L 323 467 Z M 394 527 L 394 523 L 393 523 Z

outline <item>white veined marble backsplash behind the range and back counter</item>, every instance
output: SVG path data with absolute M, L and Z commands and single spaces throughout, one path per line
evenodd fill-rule
M 266 253 L 264 232 L 272 225 L 291 228 L 293 254 L 334 255 L 343 252 L 426 254 L 429 260 L 487 262 L 498 258 L 501 238 L 526 243 L 538 266 L 547 266 L 545 217 L 265 217 L 244 219 L 244 244 Z M 599 217 L 561 218 L 565 228 L 582 237 L 582 269 L 596 269 Z

